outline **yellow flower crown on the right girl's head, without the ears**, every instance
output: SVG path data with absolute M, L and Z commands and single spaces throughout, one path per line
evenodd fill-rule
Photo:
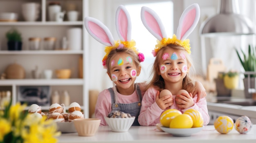
M 184 49 L 191 54 L 190 51 L 190 44 L 189 44 L 189 39 L 185 39 L 185 40 L 179 40 L 177 39 L 176 35 L 173 34 L 173 38 L 163 38 L 161 41 L 157 40 L 157 44 L 155 45 L 155 49 L 152 51 L 153 56 L 155 57 L 157 52 L 162 48 L 167 46 L 168 44 L 175 44 L 175 45 L 179 45 L 184 47 Z

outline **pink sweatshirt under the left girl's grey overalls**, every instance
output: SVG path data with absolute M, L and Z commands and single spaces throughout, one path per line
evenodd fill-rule
M 140 83 L 137 83 L 140 84 Z M 143 97 L 145 91 L 141 89 L 141 96 Z M 118 93 L 116 95 L 118 97 L 118 103 L 133 103 L 139 101 L 138 95 L 136 90 L 132 93 L 132 95 L 121 95 Z M 110 92 L 108 89 L 105 89 L 99 93 L 97 103 L 95 106 L 95 117 L 98 119 L 101 119 L 100 125 L 108 125 L 104 119 L 104 117 L 108 117 L 108 114 L 112 111 L 112 105 L 111 105 L 111 97 Z

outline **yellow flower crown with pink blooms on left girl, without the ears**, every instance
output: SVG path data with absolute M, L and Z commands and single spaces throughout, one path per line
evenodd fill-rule
M 107 61 L 107 58 L 108 58 L 108 54 L 110 53 L 110 51 L 112 51 L 116 48 L 124 48 L 125 47 L 125 48 L 131 49 L 132 51 L 134 51 L 138 55 L 140 62 L 143 62 L 144 59 L 145 59 L 144 55 L 137 51 L 137 48 L 135 48 L 135 45 L 136 45 L 136 42 L 134 40 L 131 40 L 131 41 L 118 40 L 118 41 L 115 41 L 115 45 L 106 46 L 105 47 L 106 55 L 102 59 L 102 65 L 104 66 L 104 68 L 107 68 L 106 67 L 106 61 Z

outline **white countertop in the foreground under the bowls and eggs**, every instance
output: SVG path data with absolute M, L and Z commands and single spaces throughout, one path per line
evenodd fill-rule
M 61 134 L 59 143 L 256 143 L 256 125 L 247 134 L 239 134 L 235 128 L 228 134 L 220 134 L 213 125 L 187 137 L 176 137 L 161 132 L 155 126 L 132 126 L 128 132 L 112 132 L 108 126 L 100 126 L 95 136 L 78 136 L 77 133 Z

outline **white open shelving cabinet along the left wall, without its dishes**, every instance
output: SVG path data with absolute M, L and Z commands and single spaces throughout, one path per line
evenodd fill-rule
M 70 103 L 77 102 L 82 106 L 85 118 L 89 116 L 89 90 L 88 90 L 88 34 L 83 26 L 83 18 L 88 15 L 89 0 L 1 0 L 0 13 L 18 13 L 17 22 L 0 22 L 0 74 L 8 65 L 17 63 L 25 69 L 25 79 L 0 79 L 0 91 L 11 90 L 12 102 L 16 103 L 19 86 L 50 86 L 51 91 L 68 90 Z M 22 16 L 21 5 L 26 2 L 37 2 L 40 4 L 40 16 L 35 22 L 27 22 Z M 49 2 L 60 2 L 62 11 L 66 11 L 63 22 L 49 21 Z M 67 21 L 67 4 L 74 4 L 79 11 L 78 21 Z M 22 33 L 22 51 L 7 51 L 7 39 L 5 33 L 15 27 Z M 82 29 L 81 50 L 43 50 L 44 37 L 56 37 L 56 48 L 61 47 L 61 39 L 67 37 L 67 30 L 70 28 Z M 29 37 L 40 37 L 40 50 L 29 50 Z M 83 77 L 79 78 L 79 58 L 83 57 Z M 33 79 L 31 71 L 38 66 L 41 74 L 39 79 Z M 57 79 L 53 74 L 52 79 L 43 79 L 42 73 L 45 69 L 72 70 L 70 79 Z M 87 79 L 87 80 L 86 80 Z M 50 93 L 50 95 L 52 92 Z M 49 96 L 50 96 L 49 95 Z M 43 106 L 43 110 L 48 110 L 49 106 Z

